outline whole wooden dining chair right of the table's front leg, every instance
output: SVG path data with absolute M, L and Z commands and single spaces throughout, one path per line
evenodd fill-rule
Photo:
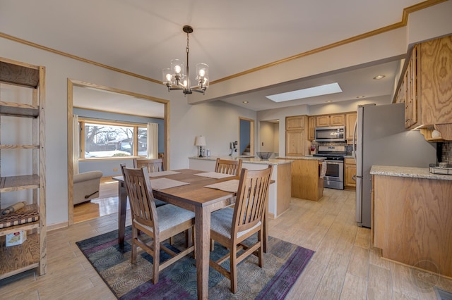
M 264 170 L 242 169 L 234 208 L 222 208 L 210 215 L 210 237 L 229 249 L 229 253 L 217 261 L 211 259 L 210 266 L 229 278 L 234 294 L 237 292 L 237 265 L 241 261 L 254 254 L 259 267 L 263 266 L 263 218 L 272 171 L 273 165 Z M 256 233 L 256 241 L 249 239 Z M 248 239 L 246 244 L 245 239 Z M 228 258 L 230 270 L 221 265 Z

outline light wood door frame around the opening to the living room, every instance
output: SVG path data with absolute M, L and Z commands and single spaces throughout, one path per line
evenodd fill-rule
M 68 119 L 68 132 L 67 132 L 67 161 L 68 161 L 68 226 L 73 225 L 73 87 L 90 87 L 94 89 L 100 89 L 107 92 L 114 92 L 118 94 L 125 94 L 136 98 L 141 98 L 153 102 L 158 102 L 164 105 L 164 117 L 163 123 L 165 125 L 164 130 L 164 151 L 165 151 L 165 170 L 169 168 L 169 100 L 155 98 L 144 94 L 138 94 L 135 92 L 125 91 L 123 89 L 116 89 L 114 87 L 106 87 L 104 85 L 96 85 L 91 82 L 85 82 L 81 80 L 74 80 L 68 78 L 68 95 L 67 95 L 67 119 Z

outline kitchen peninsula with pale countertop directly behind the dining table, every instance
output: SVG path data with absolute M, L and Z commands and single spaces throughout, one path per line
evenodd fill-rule
M 212 172 L 215 170 L 215 161 L 222 159 L 242 159 L 242 168 L 248 170 L 263 170 L 268 165 L 273 165 L 271 179 L 275 182 L 270 185 L 268 191 L 268 215 L 270 218 L 278 218 L 287 211 L 290 204 L 290 186 L 291 186 L 291 160 L 269 159 L 264 161 L 260 158 L 237 157 L 237 156 L 210 156 L 210 157 L 190 157 L 189 168 Z

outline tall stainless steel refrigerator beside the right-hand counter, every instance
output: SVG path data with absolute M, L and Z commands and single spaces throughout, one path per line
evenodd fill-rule
M 429 163 L 436 163 L 436 144 L 418 130 L 405 130 L 404 104 L 358 106 L 355 143 L 356 221 L 370 228 L 371 166 L 429 168 Z

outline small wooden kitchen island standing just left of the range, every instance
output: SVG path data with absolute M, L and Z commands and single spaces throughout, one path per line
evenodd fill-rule
M 278 158 L 293 161 L 292 197 L 319 201 L 323 196 L 323 177 L 320 175 L 325 158 L 319 156 L 280 156 Z

